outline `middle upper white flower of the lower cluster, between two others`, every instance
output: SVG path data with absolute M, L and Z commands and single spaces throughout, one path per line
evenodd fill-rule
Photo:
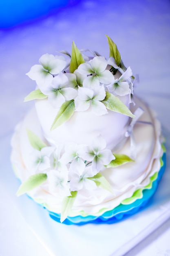
M 66 145 L 66 149 L 64 154 L 62 155 L 62 162 L 64 164 L 71 163 L 71 168 L 75 168 L 77 166 L 84 166 L 84 160 L 81 158 L 80 150 L 84 147 L 82 144 L 69 143 Z

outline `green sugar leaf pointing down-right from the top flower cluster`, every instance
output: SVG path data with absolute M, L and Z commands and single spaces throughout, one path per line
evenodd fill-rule
M 110 92 L 106 92 L 106 97 L 103 101 L 106 108 L 126 115 L 128 117 L 135 117 L 132 112 L 126 107 L 126 105 L 115 95 L 111 94 Z

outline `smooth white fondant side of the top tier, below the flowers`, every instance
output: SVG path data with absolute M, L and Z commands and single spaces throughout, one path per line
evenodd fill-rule
M 126 106 L 129 105 L 128 100 L 128 96 L 121 97 L 121 101 Z M 68 141 L 74 141 L 77 144 L 91 144 L 93 138 L 101 134 L 106 140 L 107 148 L 112 149 L 124 137 L 130 119 L 111 110 L 102 116 L 94 115 L 91 110 L 75 111 L 68 121 L 50 131 L 59 109 L 53 108 L 48 99 L 36 100 L 35 108 L 46 139 L 57 145 L 64 145 Z

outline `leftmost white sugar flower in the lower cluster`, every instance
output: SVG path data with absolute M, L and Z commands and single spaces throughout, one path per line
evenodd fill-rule
M 30 155 L 30 170 L 32 173 L 35 171 L 42 172 L 50 168 L 50 155 L 52 154 L 53 147 L 44 147 L 41 150 L 34 149 Z

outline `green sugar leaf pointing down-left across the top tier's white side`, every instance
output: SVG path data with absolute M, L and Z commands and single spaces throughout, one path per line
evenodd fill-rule
M 65 121 L 70 119 L 70 117 L 73 115 L 75 110 L 75 103 L 74 100 L 65 101 L 60 110 L 57 113 L 57 116 L 55 117 L 55 120 L 53 121 L 53 124 L 51 126 L 51 130 L 54 130 L 61 124 L 63 124 Z

